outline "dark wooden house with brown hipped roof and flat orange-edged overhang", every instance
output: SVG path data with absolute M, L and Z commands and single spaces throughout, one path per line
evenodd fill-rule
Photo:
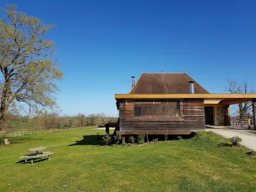
M 255 94 L 211 94 L 186 73 L 141 74 L 128 94 L 116 94 L 116 132 L 191 134 L 205 125 L 230 125 L 230 104 L 256 99 Z M 255 104 L 256 106 L 256 104 Z M 255 116 L 255 115 L 253 115 Z M 255 122 L 255 121 L 254 121 Z

